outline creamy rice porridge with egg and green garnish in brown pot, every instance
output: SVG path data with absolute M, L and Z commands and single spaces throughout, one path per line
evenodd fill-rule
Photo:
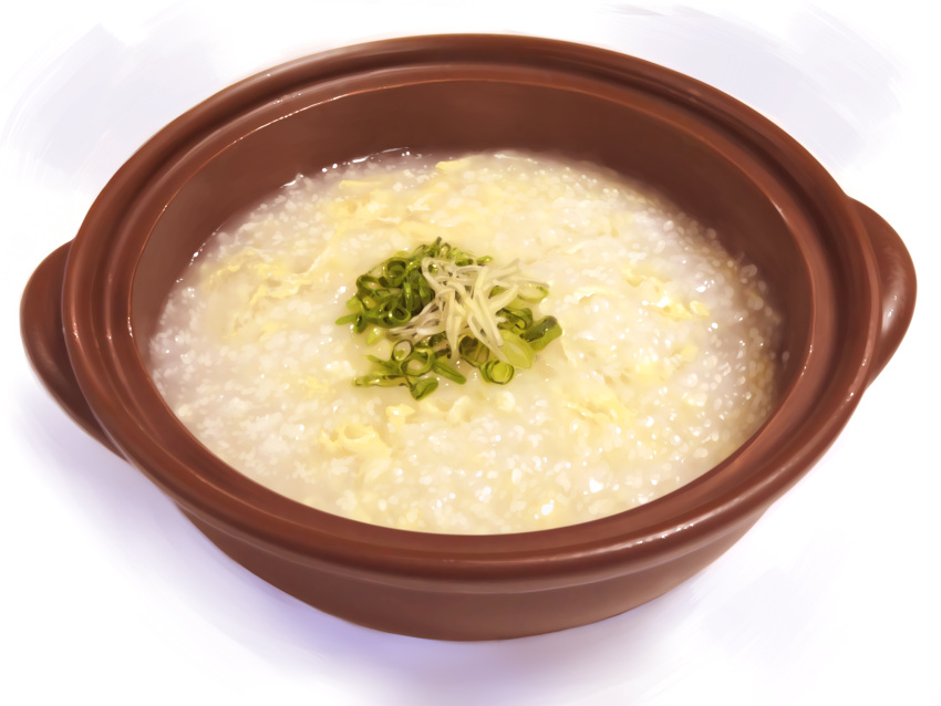
M 650 502 L 775 402 L 757 268 L 674 205 L 545 155 L 299 175 L 175 284 L 153 378 L 213 453 L 327 512 L 520 532 Z

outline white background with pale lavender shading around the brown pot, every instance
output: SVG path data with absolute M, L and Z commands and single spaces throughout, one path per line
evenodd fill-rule
M 939 704 L 939 121 L 929 3 L 19 3 L 0 25 L 0 702 Z M 82 433 L 22 354 L 19 297 L 107 178 L 232 81 L 327 46 L 500 31 L 731 93 L 902 235 L 897 356 L 825 459 L 722 559 L 599 624 L 503 643 L 373 632 L 221 556 Z

